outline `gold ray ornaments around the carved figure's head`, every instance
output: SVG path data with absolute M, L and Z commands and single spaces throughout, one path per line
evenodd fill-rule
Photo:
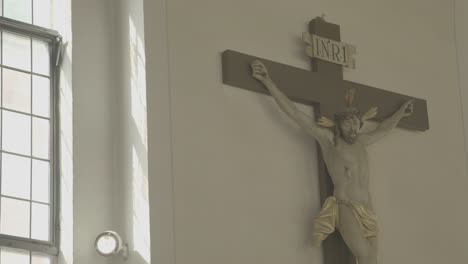
M 367 110 L 365 114 L 361 115 L 359 110 L 352 106 L 355 93 L 356 93 L 355 89 L 349 89 L 346 92 L 346 95 L 345 95 L 346 111 L 336 113 L 334 116 L 334 119 L 335 119 L 334 121 L 325 116 L 322 116 L 318 119 L 317 124 L 322 127 L 332 128 L 336 126 L 337 122 L 340 122 L 341 120 L 347 119 L 352 116 L 358 117 L 362 122 L 374 118 L 377 115 L 377 107 L 371 107 L 369 110 Z

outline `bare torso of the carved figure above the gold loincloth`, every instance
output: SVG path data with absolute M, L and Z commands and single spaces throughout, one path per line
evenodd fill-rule
M 369 206 L 369 165 L 367 151 L 359 138 L 350 144 L 338 138 L 322 152 L 338 200 Z

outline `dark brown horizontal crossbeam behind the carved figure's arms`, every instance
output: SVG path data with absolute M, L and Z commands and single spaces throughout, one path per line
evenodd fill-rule
M 226 50 L 222 54 L 223 83 L 267 94 L 262 84 L 252 78 L 250 63 L 254 60 L 261 60 L 265 64 L 275 83 L 292 100 L 308 105 L 318 103 L 322 114 L 328 118 L 333 118 L 335 112 L 345 110 L 344 95 L 348 87 L 356 88 L 354 106 L 361 111 L 367 111 L 371 106 L 379 107 L 379 114 L 374 118 L 375 121 L 387 118 L 398 106 L 412 98 L 367 85 L 329 78 L 332 75 L 330 73 L 310 72 L 232 50 Z M 414 114 L 402 119 L 398 126 L 425 131 L 429 129 L 426 100 L 414 99 Z

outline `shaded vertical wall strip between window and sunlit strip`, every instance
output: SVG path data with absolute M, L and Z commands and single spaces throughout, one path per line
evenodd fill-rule
M 114 228 L 111 9 L 107 0 L 72 2 L 74 264 L 112 263 L 94 249 Z M 70 238 L 62 238 L 70 239 Z M 71 264 L 71 263 L 67 263 Z

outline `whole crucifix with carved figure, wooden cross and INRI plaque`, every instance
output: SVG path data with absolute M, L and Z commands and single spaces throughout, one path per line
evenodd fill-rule
M 370 197 L 366 193 L 365 146 L 395 126 L 427 130 L 427 104 L 423 99 L 343 80 L 343 65 L 354 67 L 354 62 L 352 49 L 339 42 L 340 27 L 316 18 L 310 22 L 309 32 L 305 41 L 314 46 L 307 48 L 307 54 L 312 57 L 312 72 L 227 50 L 222 55 L 223 83 L 271 93 L 282 110 L 318 141 L 320 200 L 324 207 L 316 219 L 316 227 L 327 230 L 332 225 L 331 230 L 322 230 L 326 234 L 323 239 L 328 237 L 323 241 L 325 264 L 355 264 L 356 260 L 359 264 L 377 263 L 376 256 L 368 256 L 374 253 L 366 248 L 368 244 L 369 248 L 373 246 L 368 242 L 374 241 L 377 231 L 374 215 L 367 206 Z M 320 43 L 331 44 L 320 50 Z M 358 96 L 354 103 L 371 110 L 360 115 L 351 106 L 353 93 L 346 95 L 346 105 L 341 103 L 339 98 L 343 98 L 345 91 L 355 91 Z M 321 119 L 317 124 L 330 129 L 320 128 L 314 120 L 306 120 L 305 115 L 296 111 L 290 100 L 313 106 L 316 117 L 335 116 L 335 121 Z M 374 105 L 379 106 L 378 113 L 372 108 Z M 335 114 L 337 112 L 339 114 Z M 379 127 L 358 134 L 362 122 L 367 119 L 380 122 Z M 345 185 L 347 187 L 343 188 Z M 333 232 L 335 225 L 340 232 Z M 358 232 L 354 232 L 356 230 Z M 319 235 L 323 234 L 319 232 Z

